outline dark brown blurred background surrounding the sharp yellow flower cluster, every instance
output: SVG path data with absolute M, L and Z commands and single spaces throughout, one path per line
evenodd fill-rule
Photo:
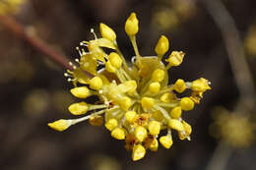
M 2 4 L 11 1 L 17 3 L 5 10 Z M 212 1 L 0 0 L 0 169 L 256 169 L 255 0 Z M 171 50 L 186 53 L 182 65 L 170 71 L 172 83 L 204 77 L 213 88 L 185 115 L 193 127 L 191 142 L 174 135 L 170 149 L 160 146 L 138 162 L 103 126 L 83 122 L 62 133 L 47 127 L 56 119 L 72 118 L 67 107 L 76 98 L 69 92 L 72 85 L 63 76 L 65 69 L 18 30 L 22 27 L 23 33 L 42 42 L 50 54 L 74 61 L 79 57 L 76 46 L 94 38 L 91 28 L 99 36 L 102 22 L 115 30 L 121 51 L 130 59 L 134 52 L 124 24 L 131 12 L 140 21 L 137 43 L 142 55 L 155 55 L 161 34 L 170 39 Z M 10 20 L 15 24 L 6 22 Z M 220 126 L 230 120 L 217 116 L 222 112 L 245 117 L 249 126 L 237 128 L 239 122 L 234 121 L 222 136 L 227 128 Z M 216 123 L 220 119 L 221 125 Z M 246 136 L 245 131 L 250 133 Z M 233 139 L 224 139 L 233 132 Z M 248 143 L 232 144 L 235 137 Z

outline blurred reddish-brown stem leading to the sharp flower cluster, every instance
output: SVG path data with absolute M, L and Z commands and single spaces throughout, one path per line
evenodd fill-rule
M 33 48 L 40 51 L 45 55 L 45 57 L 48 57 L 62 68 L 73 70 L 73 68 L 69 65 L 69 60 L 65 56 L 57 53 L 42 40 L 32 36 L 21 24 L 16 22 L 13 18 L 8 16 L 0 16 L 0 24 L 17 37 L 29 42 Z

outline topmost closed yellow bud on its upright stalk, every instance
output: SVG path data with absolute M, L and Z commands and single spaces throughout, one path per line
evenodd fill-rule
M 135 35 L 139 30 L 139 21 L 135 13 L 132 13 L 125 23 L 125 31 L 131 36 Z

